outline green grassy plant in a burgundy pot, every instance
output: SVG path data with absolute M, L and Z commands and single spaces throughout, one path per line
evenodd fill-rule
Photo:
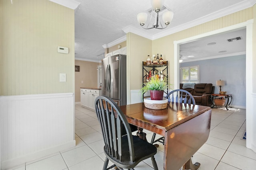
M 141 91 L 144 94 L 150 91 L 151 100 L 163 100 L 164 90 L 167 88 L 166 78 L 160 80 L 158 76 L 151 77 L 151 80 L 142 87 Z

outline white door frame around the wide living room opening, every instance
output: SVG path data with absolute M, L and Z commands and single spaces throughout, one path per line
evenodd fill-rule
M 193 37 L 188 37 L 186 39 L 181 39 L 174 41 L 174 89 L 178 89 L 180 86 L 180 45 L 198 39 L 202 39 L 207 36 L 214 34 L 223 33 L 226 31 L 234 31 L 236 29 L 246 28 L 246 147 L 252 149 L 256 152 L 256 134 L 254 129 L 256 129 L 256 120 L 254 120 L 253 115 L 253 88 L 252 88 L 252 32 L 253 32 L 253 22 L 254 20 L 248 20 L 242 23 L 231 25 L 229 27 L 224 27 L 221 29 L 216 29 L 207 33 L 196 35 Z

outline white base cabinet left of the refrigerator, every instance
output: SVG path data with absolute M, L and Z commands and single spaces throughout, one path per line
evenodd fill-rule
M 100 95 L 100 90 L 81 88 L 81 105 L 94 110 L 94 102 Z

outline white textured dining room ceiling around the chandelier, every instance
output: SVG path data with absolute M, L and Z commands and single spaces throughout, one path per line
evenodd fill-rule
M 186 25 L 197 25 L 232 12 L 248 8 L 256 0 L 165 0 L 164 5 L 174 12 L 170 25 L 163 30 L 142 29 L 137 14 L 151 8 L 149 0 L 76 0 L 75 57 L 87 61 L 100 61 L 104 53 L 102 45 L 126 35 L 123 29 L 130 27 L 150 39 L 171 31 L 180 31 Z M 159 36 L 158 36 L 159 35 Z

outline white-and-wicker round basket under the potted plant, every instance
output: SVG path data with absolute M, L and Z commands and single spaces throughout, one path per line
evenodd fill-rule
M 148 109 L 165 109 L 168 104 L 168 99 L 163 98 L 163 100 L 151 100 L 150 98 L 144 98 L 144 105 Z

